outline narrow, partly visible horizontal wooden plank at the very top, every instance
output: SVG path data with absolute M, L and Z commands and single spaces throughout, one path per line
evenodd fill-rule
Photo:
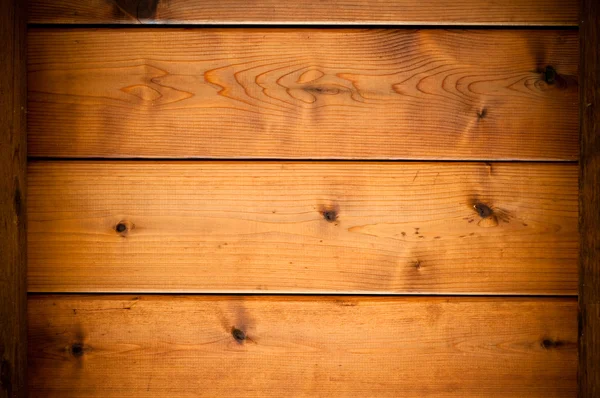
M 33 23 L 577 26 L 575 0 L 31 0 Z

